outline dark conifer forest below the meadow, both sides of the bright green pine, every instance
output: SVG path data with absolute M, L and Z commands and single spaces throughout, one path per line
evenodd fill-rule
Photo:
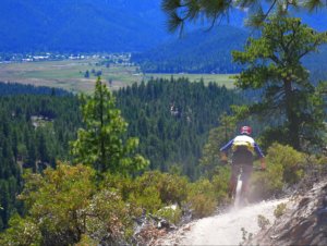
M 22 169 L 39 172 L 57 160 L 71 160 L 69 142 L 82 126 L 77 97 L 46 87 L 0 83 L 0 225 L 22 212 L 16 194 Z M 36 94 L 36 95 L 35 95 Z M 51 96 L 52 95 L 52 96 Z M 60 96 L 55 96 L 60 95 Z M 190 177 L 220 113 L 240 96 L 215 84 L 150 81 L 119 90 L 117 104 L 129 123 L 129 136 L 141 139 L 140 150 L 150 169 L 168 171 L 175 164 Z

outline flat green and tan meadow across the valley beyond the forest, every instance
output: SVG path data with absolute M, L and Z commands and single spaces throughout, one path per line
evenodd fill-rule
M 85 78 L 85 72 L 89 77 Z M 101 71 L 102 81 L 111 81 L 111 88 L 118 89 L 133 83 L 148 81 L 150 77 L 170 78 L 171 74 L 140 74 L 136 66 L 99 65 L 98 59 L 39 61 L 24 63 L 1 63 L 0 82 L 16 82 L 36 86 L 59 87 L 70 91 L 90 93 L 96 81 L 95 73 Z M 192 82 L 201 78 L 207 84 L 215 82 L 228 88 L 233 87 L 233 79 L 228 74 L 173 74 L 174 78 L 189 77 Z

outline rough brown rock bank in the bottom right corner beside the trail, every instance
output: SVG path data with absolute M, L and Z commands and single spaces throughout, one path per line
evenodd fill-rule
M 244 245 L 327 245 L 327 182 L 322 182 L 289 205 L 268 229 Z

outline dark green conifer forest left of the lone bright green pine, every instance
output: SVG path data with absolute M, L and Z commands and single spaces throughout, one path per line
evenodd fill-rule
M 63 90 L 0 83 L 0 231 L 11 214 L 23 213 L 16 200 L 22 169 L 35 172 L 69 160 L 68 142 L 81 124 L 78 101 Z

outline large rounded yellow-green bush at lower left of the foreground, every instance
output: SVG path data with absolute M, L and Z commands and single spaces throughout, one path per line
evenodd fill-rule
M 20 198 L 41 232 L 43 244 L 68 245 L 80 241 L 85 232 L 84 208 L 95 189 L 94 175 L 87 167 L 64 163 L 59 163 L 56 170 L 48 168 L 44 175 L 26 174 Z

